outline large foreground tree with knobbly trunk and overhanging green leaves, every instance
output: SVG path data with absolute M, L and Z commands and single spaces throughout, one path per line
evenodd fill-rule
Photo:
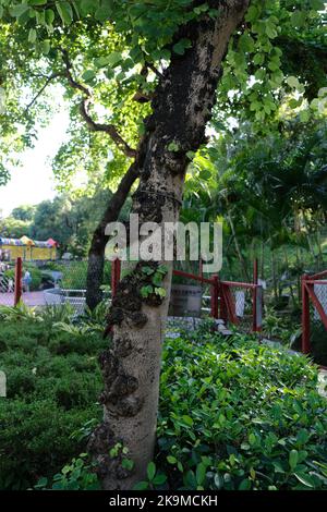
M 47 0 L 1 3 L 3 23 L 19 34 L 16 44 L 26 34 L 35 47 L 33 59 L 44 86 L 57 80 L 66 87 L 68 96 L 75 92 L 78 103 L 72 101 L 72 112 L 78 107 L 90 132 L 101 135 L 97 148 L 112 141 L 132 160 L 96 233 L 99 239 L 108 220 L 117 218 L 136 179 L 132 211 L 141 222 L 162 225 L 178 220 L 186 168 L 206 142 L 205 129 L 227 51 L 221 90 L 230 112 L 243 101 L 263 123 L 277 110 L 283 82 L 282 50 L 274 40 L 282 32 L 294 36 L 306 23 L 303 2 L 288 0 L 254 0 L 244 24 L 249 0 L 82 0 L 73 7 L 68 1 L 55 2 L 56 9 Z M 318 0 L 305 2 L 308 25 L 316 23 L 323 7 Z M 37 58 L 37 52 L 44 57 Z M 298 83 L 293 76 L 289 87 L 296 88 Z M 41 90 L 29 102 L 29 111 Z M 130 108 L 131 98 L 137 100 L 137 109 Z M 105 119 L 98 119 L 99 112 L 93 108 L 97 101 L 107 107 Z M 146 115 L 144 122 L 140 115 Z M 133 126 L 138 126 L 140 139 Z M 83 158 L 87 161 L 87 155 Z M 101 251 L 95 252 L 95 258 Z M 89 443 L 107 489 L 131 488 L 144 476 L 153 456 L 172 271 L 171 263 L 164 263 L 153 264 L 150 272 L 148 264 L 134 265 L 109 312 L 111 341 L 100 358 L 104 422 Z M 95 277 L 89 278 L 92 283 Z M 144 296 L 143 289 L 149 283 L 165 292 Z M 132 470 L 121 466 L 120 444 L 129 450 Z

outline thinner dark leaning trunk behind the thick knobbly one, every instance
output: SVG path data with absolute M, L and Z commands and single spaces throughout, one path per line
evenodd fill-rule
M 138 176 L 140 164 L 140 158 L 132 163 L 116 193 L 111 196 L 104 217 L 93 234 L 88 252 L 86 277 L 86 304 L 90 309 L 94 309 L 102 300 L 101 285 L 104 284 L 105 248 L 108 242 L 108 236 L 105 234 L 106 225 L 118 219 L 130 190 Z

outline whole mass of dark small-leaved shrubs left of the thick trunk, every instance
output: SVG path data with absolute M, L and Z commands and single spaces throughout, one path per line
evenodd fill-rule
M 107 342 L 94 333 L 75 339 L 37 317 L 2 320 L 0 343 L 8 390 L 0 399 L 0 488 L 26 489 L 85 450 L 86 439 L 70 436 L 100 419 L 97 359 Z

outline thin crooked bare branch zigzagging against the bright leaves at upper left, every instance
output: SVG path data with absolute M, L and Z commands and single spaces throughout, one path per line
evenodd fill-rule
M 62 51 L 63 62 L 65 65 L 65 76 L 69 81 L 69 84 L 71 85 L 71 87 L 80 90 L 84 95 L 80 105 L 80 112 L 83 119 L 86 121 L 86 124 L 88 125 L 89 130 L 92 130 L 93 132 L 107 133 L 126 157 L 135 158 L 137 156 L 136 149 L 131 148 L 131 146 L 122 138 L 122 136 L 119 134 L 114 124 L 102 124 L 102 123 L 97 123 L 96 121 L 94 121 L 90 113 L 88 112 L 88 106 L 90 101 L 93 100 L 92 90 L 85 85 L 80 84 L 80 82 L 76 82 L 74 80 L 72 75 L 72 71 L 71 71 L 72 64 L 69 60 L 68 52 L 65 50 L 61 50 L 61 51 Z

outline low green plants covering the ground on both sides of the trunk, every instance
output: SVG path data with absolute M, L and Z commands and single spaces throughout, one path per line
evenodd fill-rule
M 1 321 L 1 489 L 99 487 L 86 443 L 101 417 L 97 356 L 108 341 L 56 325 Z M 167 338 L 156 455 L 136 487 L 327 489 L 327 401 L 316 387 L 310 359 L 253 337 L 226 340 L 205 325 Z

